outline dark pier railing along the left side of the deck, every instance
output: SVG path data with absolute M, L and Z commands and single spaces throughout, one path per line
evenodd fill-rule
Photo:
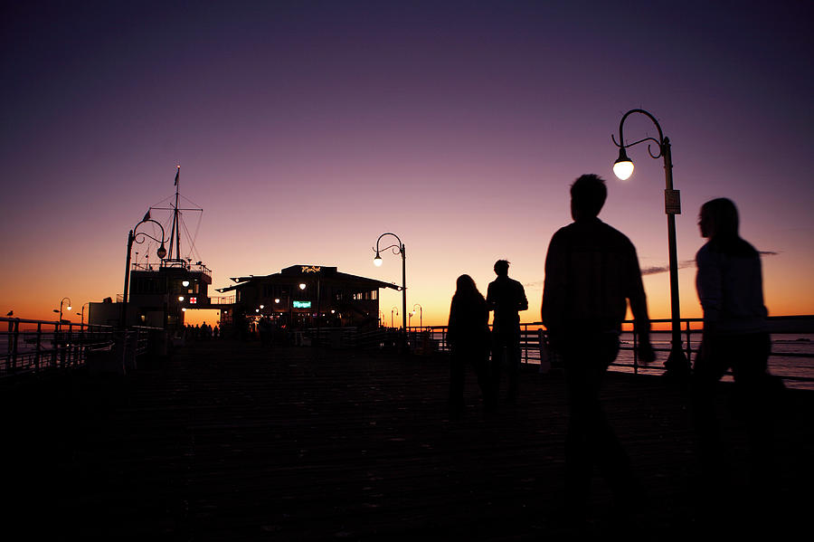
M 156 353 L 163 329 L 0 318 L 0 377 L 89 366 L 124 373 Z

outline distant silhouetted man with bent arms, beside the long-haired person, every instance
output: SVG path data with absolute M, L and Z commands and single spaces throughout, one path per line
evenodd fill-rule
M 489 283 L 487 307 L 495 311 L 492 319 L 492 393 L 500 389 L 500 375 L 503 369 L 508 376 L 506 402 L 514 403 L 519 393 L 520 373 L 520 315 L 518 311 L 528 309 L 523 285 L 509 279 L 509 262 L 495 262 L 497 279 Z

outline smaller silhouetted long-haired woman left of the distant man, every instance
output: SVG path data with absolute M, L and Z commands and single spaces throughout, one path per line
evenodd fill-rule
M 447 341 L 450 344 L 450 414 L 459 416 L 463 411 L 464 366 L 475 367 L 478 384 L 484 394 L 484 404 L 491 405 L 487 396 L 486 366 L 489 357 L 489 312 L 486 300 L 469 275 L 461 275 L 450 306 L 450 325 Z

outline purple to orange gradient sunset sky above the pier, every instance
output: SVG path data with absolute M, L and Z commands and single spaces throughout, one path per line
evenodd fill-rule
M 400 283 L 398 256 L 372 263 L 393 232 L 425 325 L 446 323 L 459 274 L 485 292 L 499 258 L 536 321 L 583 173 L 608 180 L 601 218 L 642 268 L 667 265 L 661 160 L 639 145 L 628 181 L 611 172 L 634 108 L 673 145 L 682 316 L 700 315 L 696 215 L 719 196 L 765 252 L 770 314 L 812 314 L 812 23 L 807 0 L 6 2 L 0 314 L 121 293 L 128 230 L 180 164 L 204 208 L 182 255 L 213 288 L 300 263 Z M 656 133 L 625 124 L 629 141 Z M 667 272 L 645 286 L 668 318 Z M 383 293 L 386 314 L 400 296 Z

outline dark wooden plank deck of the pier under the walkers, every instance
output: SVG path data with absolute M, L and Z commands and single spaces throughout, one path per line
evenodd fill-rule
M 612 503 L 600 478 L 590 523 L 576 531 L 560 521 L 562 375 L 526 371 L 520 403 L 490 417 L 469 375 L 457 421 L 446 411 L 448 383 L 442 357 L 226 341 L 181 348 L 124 378 L 9 380 L 0 387 L 6 535 L 20 527 L 25 539 L 107 540 L 631 534 L 617 521 L 628 503 Z M 610 374 L 603 396 L 647 494 L 628 507 L 633 527 L 646 539 L 708 528 L 696 520 L 686 390 Z M 745 437 L 726 397 L 738 496 Z M 805 525 L 811 504 L 800 491 L 814 481 L 814 394 L 787 390 L 782 414 L 777 490 L 771 506 L 758 508 L 771 525 L 793 529 Z M 734 509 L 749 528 L 754 510 Z M 738 520 L 728 515 L 720 525 Z

